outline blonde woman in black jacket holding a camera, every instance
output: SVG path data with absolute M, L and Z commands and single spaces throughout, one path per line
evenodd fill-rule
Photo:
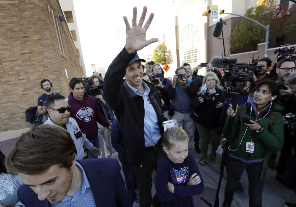
M 200 135 L 201 158 L 199 164 L 205 165 L 208 156 L 208 142 L 211 138 L 212 151 L 210 158 L 216 158 L 216 150 L 220 145 L 220 134 L 216 134 L 219 126 L 221 109 L 224 102 L 223 87 L 214 72 L 208 72 L 204 76 L 203 87 L 198 96 L 193 100 L 192 108 L 194 112 L 191 118 L 195 120 L 196 127 Z

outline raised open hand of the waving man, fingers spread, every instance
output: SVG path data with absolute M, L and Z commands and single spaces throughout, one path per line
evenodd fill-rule
M 125 22 L 125 26 L 127 29 L 127 36 L 125 40 L 125 49 L 126 51 L 130 53 L 137 53 L 138 50 L 143 49 L 147 45 L 157 42 L 158 38 L 152 38 L 150 40 L 146 40 L 146 32 L 148 27 L 150 26 L 150 23 L 153 19 L 154 14 L 151 13 L 149 16 L 149 19 L 145 23 L 144 27 L 142 27 L 145 17 L 146 17 L 147 7 L 144 6 L 142 15 L 140 17 L 139 23 L 137 25 L 137 7 L 134 7 L 133 10 L 133 26 L 130 27 L 129 22 L 127 21 L 126 16 L 123 17 L 123 20 Z

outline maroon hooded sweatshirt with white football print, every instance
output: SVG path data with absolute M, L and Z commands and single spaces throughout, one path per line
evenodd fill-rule
M 72 106 L 71 117 L 77 121 L 81 132 L 86 135 L 88 140 L 97 136 L 99 129 L 97 122 L 106 128 L 110 126 L 101 114 L 100 107 L 92 96 L 84 92 L 83 101 L 81 101 L 75 99 L 73 93 L 70 92 L 68 98 L 68 104 Z

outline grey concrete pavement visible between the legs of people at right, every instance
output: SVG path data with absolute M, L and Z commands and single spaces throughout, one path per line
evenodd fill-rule
M 195 155 L 195 161 L 198 163 L 201 154 L 197 154 L 195 150 L 191 151 Z M 202 195 L 194 196 L 194 202 L 196 207 L 207 207 L 208 205 L 204 201 L 200 200 L 200 197 L 203 197 L 212 205 L 215 203 L 215 197 L 217 192 L 217 186 L 220 178 L 220 161 L 222 148 L 218 148 L 217 157 L 215 160 L 210 160 L 210 145 L 208 150 L 208 159 L 205 166 L 199 165 L 199 171 L 204 179 L 205 190 Z M 279 158 L 280 153 L 278 152 L 277 159 Z M 112 158 L 118 159 L 117 152 L 112 154 Z M 121 170 L 122 177 L 124 175 Z M 275 180 L 276 171 L 272 169 L 267 169 L 267 175 L 265 179 L 265 185 L 262 195 L 262 207 L 283 207 L 284 202 L 296 203 L 295 193 L 286 188 L 282 183 Z M 296 176 L 296 175 L 295 175 Z M 242 175 L 244 192 L 235 193 L 234 199 L 232 201 L 232 207 L 249 207 L 249 197 L 248 197 L 248 177 L 244 173 Z M 224 187 L 226 184 L 226 170 L 224 170 L 224 177 L 222 178 L 221 188 L 219 193 L 219 207 L 222 206 L 224 201 Z M 155 194 L 155 185 L 152 183 L 152 196 Z

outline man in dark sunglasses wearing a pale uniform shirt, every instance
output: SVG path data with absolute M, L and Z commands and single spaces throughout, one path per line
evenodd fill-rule
M 85 134 L 81 132 L 75 119 L 70 117 L 70 111 L 71 106 L 68 105 L 64 96 L 52 95 L 47 99 L 47 112 L 49 117 L 44 124 L 63 127 L 70 133 L 77 150 L 77 160 L 84 159 L 84 146 L 95 156 L 100 156 L 100 150 L 93 146 L 93 144 L 88 141 Z

